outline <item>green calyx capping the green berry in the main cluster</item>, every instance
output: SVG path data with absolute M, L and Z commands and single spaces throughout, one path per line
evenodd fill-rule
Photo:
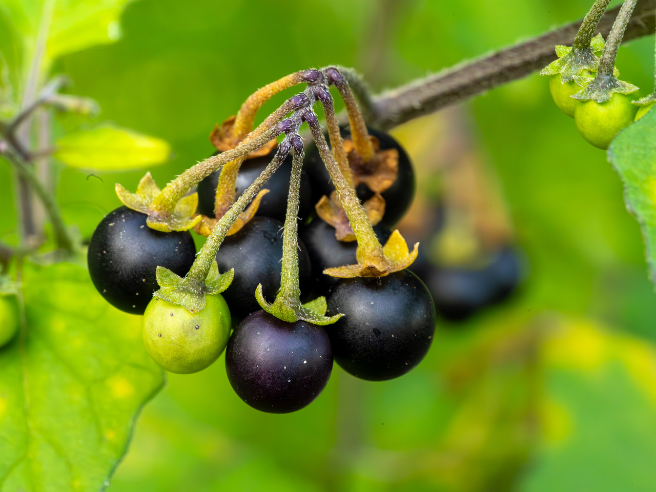
M 157 267 L 156 275 L 159 290 L 155 291 L 155 297 L 196 313 L 205 308 L 206 295 L 220 294 L 230 287 L 235 277 L 235 269 L 231 268 L 220 274 L 218 264 L 214 260 L 204 282 L 192 276 L 182 278 L 163 266 Z

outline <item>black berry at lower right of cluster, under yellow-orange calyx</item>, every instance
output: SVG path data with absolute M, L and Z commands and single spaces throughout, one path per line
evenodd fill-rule
M 401 270 L 386 277 L 340 279 L 326 296 L 326 331 L 335 362 L 361 379 L 404 375 L 424 358 L 435 333 L 435 306 L 422 281 Z

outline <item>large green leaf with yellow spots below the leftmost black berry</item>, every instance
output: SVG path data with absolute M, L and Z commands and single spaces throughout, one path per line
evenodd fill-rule
M 71 264 L 26 265 L 23 295 L 22 333 L 0 350 L 0 489 L 98 491 L 163 384 L 142 319 Z

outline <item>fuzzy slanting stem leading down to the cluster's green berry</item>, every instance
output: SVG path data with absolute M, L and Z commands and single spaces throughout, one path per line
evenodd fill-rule
M 226 154 L 230 152 L 227 151 Z M 207 237 L 207 241 L 203 244 L 201 251 L 196 256 L 192 268 L 190 268 L 189 273 L 185 281 L 197 282 L 200 285 L 207 278 L 207 274 L 216 258 L 216 252 L 220 247 L 223 240 L 226 238 L 226 234 L 239 218 L 246 206 L 251 203 L 251 200 L 255 197 L 258 191 L 264 186 L 268 179 L 274 174 L 276 169 L 280 167 L 287 153 L 289 152 L 289 146 L 284 146 L 281 144 L 278 146 L 278 151 L 271 162 L 266 166 L 264 171 L 258 176 L 258 178 L 253 181 L 251 186 L 246 188 L 245 192 L 241 194 L 239 199 L 235 202 L 232 207 L 228 210 L 226 215 L 222 216 L 221 220 L 216 223 L 215 228 L 212 230 L 212 234 Z

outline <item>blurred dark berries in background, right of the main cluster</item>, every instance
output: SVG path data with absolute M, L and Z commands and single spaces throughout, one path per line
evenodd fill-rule
M 426 282 L 440 315 L 453 321 L 507 298 L 522 274 L 520 259 L 510 248 L 502 249 L 482 268 L 440 267 L 426 260 L 410 268 Z

